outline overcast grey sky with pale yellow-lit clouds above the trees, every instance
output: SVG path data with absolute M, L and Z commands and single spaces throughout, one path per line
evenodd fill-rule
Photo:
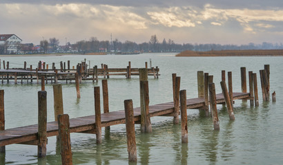
M 282 0 L 1 0 L 0 34 L 23 43 L 113 40 L 175 43 L 283 43 Z

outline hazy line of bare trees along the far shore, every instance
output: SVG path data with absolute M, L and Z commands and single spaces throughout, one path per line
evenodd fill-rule
M 282 43 L 267 43 L 261 44 L 248 43 L 247 45 L 221 45 L 215 43 L 175 43 L 172 39 L 163 39 L 159 41 L 156 34 L 150 36 L 148 42 L 135 43 L 134 41 L 121 42 L 118 39 L 113 41 L 99 41 L 96 37 L 90 37 L 89 40 L 81 40 L 71 44 L 66 42 L 65 45 L 59 45 L 59 39 L 55 37 L 48 40 L 40 41 L 39 45 L 21 44 L 19 52 L 27 53 L 52 53 L 52 52 L 66 52 L 66 53 L 117 53 L 117 52 L 183 52 L 185 50 L 193 50 L 197 52 L 206 52 L 211 50 L 280 50 L 283 49 Z M 0 50 L 4 50 L 4 45 L 0 46 Z M 5 52 L 5 51 L 0 51 Z

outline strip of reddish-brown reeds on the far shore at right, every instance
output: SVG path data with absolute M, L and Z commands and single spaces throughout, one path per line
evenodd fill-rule
M 186 50 L 176 56 L 283 56 L 283 50 L 211 50 L 207 52 Z

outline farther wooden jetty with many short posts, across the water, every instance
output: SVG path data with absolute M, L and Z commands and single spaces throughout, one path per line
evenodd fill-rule
M 147 62 L 145 65 L 148 71 L 148 76 L 154 76 L 154 78 L 160 76 L 159 68 L 151 67 L 151 61 L 149 68 Z M 17 84 L 19 80 L 20 83 L 23 83 L 23 80 L 26 80 L 27 83 L 32 83 L 32 80 L 37 80 L 37 83 L 39 83 L 41 77 L 44 76 L 46 83 L 57 83 L 58 80 L 66 81 L 66 83 L 68 83 L 68 81 L 75 80 L 75 73 L 78 73 L 80 83 L 81 80 L 92 80 L 92 82 L 98 81 L 99 76 L 103 76 L 103 78 L 110 78 L 110 76 L 124 76 L 126 78 L 139 76 L 139 69 L 132 68 L 130 61 L 126 68 L 108 68 L 108 65 L 106 64 L 101 64 L 101 68 L 98 68 L 97 65 L 90 68 L 86 62 L 82 62 L 78 63 L 75 69 L 75 66 L 70 68 L 70 61 L 68 61 L 67 67 L 66 63 L 61 61 L 60 69 L 56 69 L 55 63 L 52 63 L 52 69 L 49 69 L 48 67 L 49 65 L 41 63 L 40 61 L 36 69 L 32 69 L 32 65 L 28 68 L 26 62 L 23 64 L 23 68 L 10 68 L 9 62 L 5 63 L 5 61 L 3 61 L 3 69 L 1 69 L 0 65 L 1 82 L 3 83 L 4 80 L 6 80 L 7 83 L 9 83 L 10 80 L 14 80 L 14 83 Z

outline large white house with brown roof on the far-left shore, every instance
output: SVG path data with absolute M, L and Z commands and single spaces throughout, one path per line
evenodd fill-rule
M 0 46 L 5 54 L 19 54 L 21 41 L 15 34 L 0 34 Z

